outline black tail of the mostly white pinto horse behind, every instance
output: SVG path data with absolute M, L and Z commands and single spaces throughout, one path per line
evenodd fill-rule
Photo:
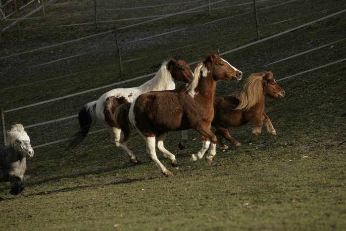
M 81 128 L 71 136 L 66 150 L 70 150 L 80 144 L 88 135 L 89 129 L 96 124 L 96 101 L 86 104 L 79 111 L 78 120 Z

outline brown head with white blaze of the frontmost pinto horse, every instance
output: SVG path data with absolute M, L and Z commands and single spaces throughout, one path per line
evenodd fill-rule
M 232 66 L 228 61 L 220 57 L 220 52 L 217 50 L 215 54 L 210 52 L 209 56 L 205 58 L 205 65 L 210 61 L 212 67 L 207 67 L 208 70 L 213 71 L 212 75 L 215 80 L 241 80 L 243 77 L 243 72 Z

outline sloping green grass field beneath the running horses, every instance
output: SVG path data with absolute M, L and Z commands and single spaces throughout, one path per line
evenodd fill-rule
M 131 2 L 100 0 L 98 5 L 110 9 L 163 4 L 158 0 Z M 163 6 L 155 11 L 100 10 L 99 20 L 163 15 L 205 2 Z M 123 60 L 145 57 L 125 62 L 123 78 L 113 33 L 13 54 L 148 19 L 100 22 L 95 32 L 93 24 L 59 27 L 92 22 L 92 12 L 74 12 L 92 10 L 93 1 L 47 6 L 45 18 L 23 20 L 20 29 L 13 27 L 2 34 L 0 108 L 6 111 L 152 73 L 159 63 L 177 54 L 194 62 L 210 51 L 220 49 L 223 53 L 254 42 L 252 5 L 243 4 L 246 2 L 227 0 L 213 5 L 221 8 L 214 9 L 211 16 L 205 7 L 204 11 L 121 30 Z M 259 1 L 257 8 L 260 35 L 266 38 L 337 13 L 346 5 L 339 0 L 267 0 Z M 215 20 L 219 21 L 212 22 Z M 144 140 L 136 132 L 128 147 L 141 160 L 138 166 L 109 142 L 107 131 L 89 135 L 69 152 L 65 151 L 66 142 L 36 148 L 34 157 L 27 161 L 31 178 L 25 190 L 13 196 L 8 193 L 9 183 L 0 184 L 0 230 L 346 230 L 346 68 L 345 61 L 326 65 L 345 58 L 345 26 L 343 12 L 223 56 L 244 72 L 244 79 L 264 70 L 272 71 L 276 80 L 297 74 L 278 81 L 286 91 L 285 98 L 266 101 L 277 136 L 265 128 L 253 136 L 250 125 L 230 129 L 242 146 L 226 142 L 230 149 L 217 149 L 212 165 L 207 165 L 205 159 L 190 162 L 190 156 L 201 147 L 197 132 L 189 131 L 183 151 L 178 149 L 180 132 L 171 132 L 165 147 L 176 155 L 179 169 L 172 168 L 161 154 L 158 158 L 172 177 L 164 177 L 149 160 Z M 182 28 L 188 29 L 155 37 Z M 324 46 L 329 43 L 333 44 Z M 295 56 L 305 51 L 309 52 Z M 74 55 L 80 56 L 63 59 Z M 75 72 L 81 73 L 61 77 Z M 116 87 L 138 86 L 150 78 Z M 232 94 L 244 79 L 219 82 L 216 96 Z M 84 104 L 110 89 L 5 113 L 6 129 L 14 122 L 28 126 L 78 114 Z M 78 127 L 77 118 L 71 118 L 26 130 L 32 145 L 37 146 L 68 138 Z M 100 128 L 98 124 L 93 130 Z

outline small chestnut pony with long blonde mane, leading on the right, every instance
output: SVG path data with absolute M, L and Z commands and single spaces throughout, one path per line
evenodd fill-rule
M 264 120 L 267 131 L 276 135 L 269 116 L 264 112 L 266 96 L 272 98 L 285 96 L 285 91 L 277 84 L 271 71 L 253 73 L 247 78 L 242 90 L 215 99 L 214 119 L 211 124 L 216 128 L 215 135 L 221 149 L 228 149 L 228 146 L 222 142 L 222 137 L 237 147 L 241 145 L 230 136 L 229 127 L 252 123 L 256 125 L 252 133 L 258 135 L 262 131 Z

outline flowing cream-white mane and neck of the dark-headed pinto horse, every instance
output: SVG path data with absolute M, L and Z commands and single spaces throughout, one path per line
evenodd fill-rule
M 168 61 L 162 62 L 160 69 L 157 71 L 156 75 L 138 87 L 141 92 L 149 91 L 162 91 L 162 90 L 172 90 L 175 88 L 174 79 L 169 72 Z

